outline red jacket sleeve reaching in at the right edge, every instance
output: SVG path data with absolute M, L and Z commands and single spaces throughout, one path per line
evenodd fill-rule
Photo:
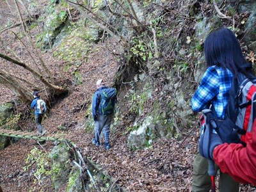
M 213 158 L 221 172 L 228 173 L 238 182 L 256 185 L 256 124 L 253 132 L 246 134 L 252 134 L 252 140 L 248 141 L 246 147 L 224 143 L 214 148 Z

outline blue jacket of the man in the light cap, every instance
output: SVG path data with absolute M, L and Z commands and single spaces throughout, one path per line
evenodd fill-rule
M 92 97 L 92 116 L 95 118 L 97 115 L 102 115 L 102 110 L 100 109 L 100 92 L 104 89 L 107 89 L 108 86 L 102 86 L 96 90 Z M 113 107 L 115 106 L 116 97 L 111 100 Z

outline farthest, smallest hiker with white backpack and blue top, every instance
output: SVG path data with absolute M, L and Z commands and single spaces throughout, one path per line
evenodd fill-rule
M 42 119 L 44 116 L 44 113 L 46 112 L 46 104 L 44 100 L 40 99 L 40 95 L 38 92 L 33 92 L 34 99 L 31 102 L 31 109 L 35 109 L 35 121 L 36 121 L 36 129 L 38 134 L 44 135 L 47 131 L 42 126 Z

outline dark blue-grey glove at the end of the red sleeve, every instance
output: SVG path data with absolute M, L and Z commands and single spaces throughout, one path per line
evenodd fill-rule
M 223 143 L 220 136 L 212 131 L 213 129 L 204 126 L 199 140 L 199 153 L 207 159 L 213 159 L 214 148 Z

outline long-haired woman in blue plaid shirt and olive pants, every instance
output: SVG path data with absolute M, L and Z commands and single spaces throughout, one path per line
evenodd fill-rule
M 219 29 L 207 36 L 204 53 L 207 70 L 193 95 L 191 106 L 196 112 L 211 106 L 216 118 L 225 120 L 233 77 L 237 77 L 238 72 L 250 76 L 252 66 L 244 59 L 236 36 L 227 28 Z M 196 154 L 193 163 L 192 191 L 209 191 L 211 178 L 207 169 L 207 159 Z M 221 192 L 239 191 L 239 184 L 227 174 L 220 172 L 219 183 Z

